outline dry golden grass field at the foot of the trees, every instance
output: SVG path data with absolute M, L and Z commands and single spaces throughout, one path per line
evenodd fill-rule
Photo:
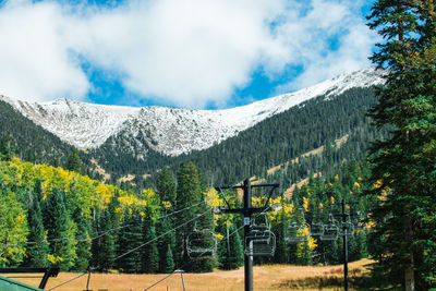
M 349 276 L 359 277 L 367 271 L 371 260 L 363 259 L 349 265 Z M 342 266 L 302 267 L 287 265 L 255 266 L 254 290 L 342 290 Z M 78 274 L 61 272 L 58 278 L 50 278 L 46 289 L 50 289 L 60 282 L 66 281 Z M 144 290 L 153 282 L 166 275 L 116 275 L 93 274 L 89 289 L 108 291 L 138 291 Z M 208 274 L 184 274 L 186 290 L 189 291 L 231 291 L 244 290 L 244 269 Z M 32 286 L 38 284 L 38 279 L 17 279 Z M 59 291 L 86 290 L 87 276 L 83 276 L 68 284 L 56 288 Z M 160 282 L 150 290 L 183 290 L 180 274 L 175 274 Z M 351 286 L 350 290 L 353 289 Z

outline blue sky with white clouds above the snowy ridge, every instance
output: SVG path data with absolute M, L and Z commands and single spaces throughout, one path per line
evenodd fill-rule
M 373 0 L 0 0 L 0 95 L 228 108 L 371 65 Z

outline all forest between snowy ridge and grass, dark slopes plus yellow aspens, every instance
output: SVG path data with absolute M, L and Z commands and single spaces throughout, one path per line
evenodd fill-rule
M 293 223 L 339 223 L 341 199 L 355 214 L 352 222 L 359 227 L 350 237 L 350 259 L 364 257 L 368 226 L 361 219 L 373 202 L 362 201 L 360 193 L 373 185 L 363 182 L 367 175 L 363 157 L 371 141 L 387 135 L 386 130 L 375 131 L 365 116 L 375 99 L 374 88 L 354 88 L 330 98 L 319 96 L 209 149 L 177 158 L 150 150 L 144 161 L 123 151 L 122 141 L 112 137 L 108 143 L 119 144 L 120 150 L 105 151 L 104 145 L 98 149 L 101 151 L 81 153 L 84 167 L 68 146 L 59 154 L 63 157 L 60 162 L 56 149 L 60 148 L 58 142 L 64 144 L 56 138 L 48 138 L 41 148 L 53 148 L 55 154 L 47 157 L 57 159 L 45 158 L 45 151 L 39 159 L 23 155 L 26 143 L 33 145 L 27 140 L 32 134 L 45 136 L 47 132 L 4 106 L 11 117 L 2 120 L 3 124 L 15 119 L 24 130 L 15 126 L 3 136 L 0 148 L 0 196 L 4 206 L 0 210 L 7 217 L 1 226 L 7 231 L 0 238 L 3 265 L 59 265 L 64 270 L 92 267 L 123 272 L 239 267 L 245 250 L 242 218 L 213 215 L 213 207 L 223 205 L 222 194 L 213 186 L 231 185 L 250 177 L 280 183 L 271 203 L 282 206 L 267 214 L 277 239 L 276 253 L 269 258 L 256 257 L 256 263 L 339 263 L 340 238 L 323 241 L 314 235 L 298 243 L 288 241 L 289 235 L 307 235 L 307 229 L 290 230 Z M 25 136 L 21 131 L 31 133 Z M 96 158 L 111 174 L 109 182 L 120 184 L 118 178 L 126 173 L 136 178 L 121 183 L 122 190 L 62 168 L 22 162 L 13 153 L 24 160 L 65 165 L 82 173 L 85 168 L 98 177 L 89 170 L 88 161 Z M 146 173 L 154 175 L 144 177 Z M 289 191 L 303 179 L 306 183 Z M 255 205 L 259 206 L 265 195 L 255 193 Z M 228 192 L 226 196 L 231 205 L 241 204 L 238 193 Z M 195 247 L 207 255 L 190 254 L 189 250 Z

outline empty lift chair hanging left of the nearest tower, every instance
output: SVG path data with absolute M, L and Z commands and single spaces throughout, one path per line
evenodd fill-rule
M 197 230 L 195 221 L 193 231 L 186 238 L 186 252 L 190 257 L 211 256 L 217 248 L 217 238 L 208 229 Z

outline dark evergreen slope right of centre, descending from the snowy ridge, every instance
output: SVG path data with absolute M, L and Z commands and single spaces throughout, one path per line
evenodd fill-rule
M 328 175 L 342 162 L 362 160 L 371 142 L 388 135 L 366 117 L 374 102 L 374 88 L 353 88 L 329 99 L 320 96 L 209 149 L 178 157 L 173 165 L 194 162 L 214 185 L 256 175 L 288 187 L 311 173 Z M 342 141 L 339 146 L 336 140 Z M 301 157 L 320 147 L 318 154 Z M 278 171 L 267 172 L 279 165 Z

